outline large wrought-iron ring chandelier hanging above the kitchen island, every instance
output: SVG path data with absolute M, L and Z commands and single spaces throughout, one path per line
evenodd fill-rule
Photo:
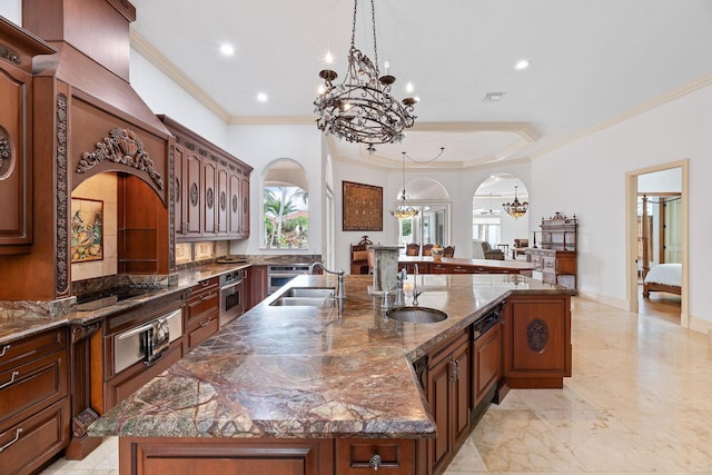
M 354 46 L 356 39 L 356 7 L 354 1 L 354 24 L 352 44 L 348 50 L 348 70 L 344 81 L 334 85 L 337 73 L 330 69 L 319 72 L 324 85 L 319 87 L 314 111 L 318 116 L 316 125 L 319 130 L 349 142 L 356 144 L 394 144 L 399 142 L 403 130 L 413 127 L 415 116 L 413 106 L 415 98 L 405 98 L 398 102 L 390 96 L 390 86 L 396 78 L 388 75 L 388 66 L 384 76 L 378 70 L 378 50 L 376 47 L 376 9 L 370 0 L 370 12 L 374 30 L 374 59 L 362 53 Z

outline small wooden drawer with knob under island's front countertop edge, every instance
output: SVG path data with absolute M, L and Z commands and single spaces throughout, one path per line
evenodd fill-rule
M 379 457 L 378 473 L 413 474 L 414 445 L 411 439 L 337 439 L 337 475 L 373 473 L 372 457 Z

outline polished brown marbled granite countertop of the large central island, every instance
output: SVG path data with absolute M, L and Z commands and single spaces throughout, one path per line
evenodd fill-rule
M 413 278 L 413 277 L 411 277 Z M 520 275 L 422 275 L 437 324 L 387 318 L 370 276 L 346 276 L 325 307 L 268 297 L 89 427 L 95 436 L 427 437 L 435 425 L 412 362 L 511 293 L 568 293 Z M 336 286 L 298 276 L 286 287 Z

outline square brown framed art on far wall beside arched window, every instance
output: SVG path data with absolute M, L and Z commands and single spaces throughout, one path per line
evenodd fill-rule
M 342 229 L 345 231 L 383 230 L 383 188 L 343 182 Z

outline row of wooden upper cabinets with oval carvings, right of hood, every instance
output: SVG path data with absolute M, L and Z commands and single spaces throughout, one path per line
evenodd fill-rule
M 249 175 L 253 167 L 167 116 L 176 137 L 176 240 L 249 237 Z

